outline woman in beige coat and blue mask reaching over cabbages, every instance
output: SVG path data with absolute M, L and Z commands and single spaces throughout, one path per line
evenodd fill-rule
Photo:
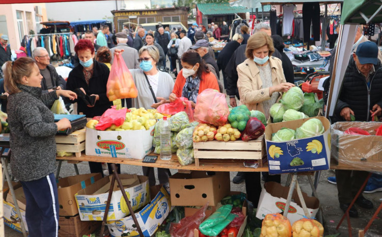
M 275 51 L 272 39 L 264 32 L 257 32 L 248 39 L 245 56 L 247 60 L 237 66 L 237 88 L 240 103 L 249 110 L 258 110 L 269 118 L 269 108 L 276 103 L 282 92 L 294 85 L 285 81 L 281 60 L 272 57 Z M 263 174 L 265 182 L 281 181 L 280 175 Z M 259 172 L 244 172 L 247 197 L 255 207 L 260 199 Z

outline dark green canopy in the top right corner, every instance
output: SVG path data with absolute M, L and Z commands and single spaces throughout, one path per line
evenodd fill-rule
M 341 24 L 380 23 L 382 22 L 381 10 L 382 2 L 379 0 L 344 0 Z

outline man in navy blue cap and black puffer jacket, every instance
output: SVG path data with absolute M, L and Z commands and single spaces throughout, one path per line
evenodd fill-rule
M 336 103 L 333 121 L 371 121 L 382 112 L 382 65 L 378 60 L 378 46 L 371 41 L 360 43 L 350 59 Z M 367 171 L 336 170 L 338 200 L 346 212 L 368 175 Z M 360 195 L 358 206 L 372 209 L 373 203 Z M 358 217 L 352 206 L 350 217 Z

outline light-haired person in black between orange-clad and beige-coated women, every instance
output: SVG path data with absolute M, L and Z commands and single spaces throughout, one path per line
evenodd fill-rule
M 235 34 L 232 37 L 232 41 L 228 42 L 226 46 L 224 46 L 222 51 L 219 52 L 219 55 L 217 56 L 216 63 L 217 63 L 217 66 L 219 67 L 219 70 L 222 70 L 224 89 L 226 90 L 227 90 L 227 75 L 224 72 L 224 69 L 226 68 L 236 48 L 240 46 L 242 41 L 243 41 L 242 35 Z

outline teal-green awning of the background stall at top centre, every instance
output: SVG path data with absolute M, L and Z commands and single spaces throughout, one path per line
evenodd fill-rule
M 229 3 L 200 3 L 197 7 L 203 15 L 229 15 L 251 11 L 245 7 L 231 7 Z

